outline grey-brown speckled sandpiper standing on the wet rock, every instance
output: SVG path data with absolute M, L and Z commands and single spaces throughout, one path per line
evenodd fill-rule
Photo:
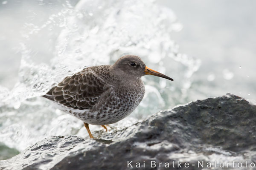
M 148 68 L 135 55 L 120 57 L 113 65 L 98 65 L 65 77 L 43 97 L 52 100 L 61 111 L 84 122 L 90 138 L 90 125 L 116 123 L 131 114 L 142 101 L 145 86 L 142 77 L 172 78 Z

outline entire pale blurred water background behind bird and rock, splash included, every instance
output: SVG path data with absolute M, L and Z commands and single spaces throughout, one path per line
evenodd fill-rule
M 143 77 L 143 102 L 110 128 L 226 93 L 256 99 L 255 6 L 253 0 L 1 0 L 0 159 L 48 136 L 87 137 L 80 120 L 40 96 L 84 67 L 125 54 L 175 81 Z

